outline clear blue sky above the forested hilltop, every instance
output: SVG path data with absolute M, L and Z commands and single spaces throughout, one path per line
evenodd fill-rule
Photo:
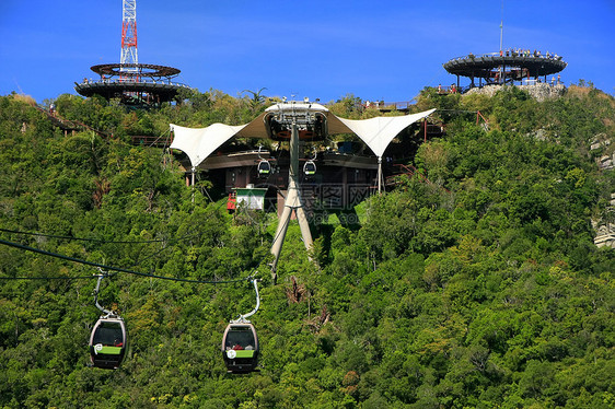
M 469 5 L 468 5 L 469 4 Z M 137 0 L 139 62 L 236 96 L 410 101 L 442 68 L 499 50 L 501 1 Z M 503 46 L 557 52 L 566 83 L 615 93 L 615 1 L 504 0 Z M 0 95 L 42 103 L 119 62 L 121 0 L 0 0 Z

